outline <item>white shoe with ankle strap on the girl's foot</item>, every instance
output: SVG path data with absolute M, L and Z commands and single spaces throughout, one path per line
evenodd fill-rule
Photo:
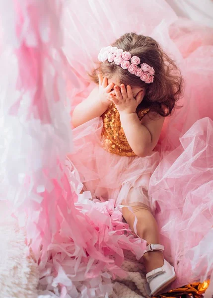
M 153 250 L 164 250 L 164 246 L 160 244 L 149 244 L 146 246 L 144 253 Z M 176 274 L 174 267 L 170 265 L 165 259 L 162 267 L 154 269 L 146 274 L 146 280 L 151 290 L 150 296 L 155 296 L 169 286 L 175 279 Z

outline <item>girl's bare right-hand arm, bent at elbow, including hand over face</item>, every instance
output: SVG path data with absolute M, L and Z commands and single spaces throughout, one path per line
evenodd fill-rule
M 136 113 L 137 106 L 142 102 L 144 91 L 141 90 L 136 98 L 132 88 L 121 84 L 121 90 L 115 86 L 115 95 L 110 95 L 120 113 L 121 124 L 127 141 L 136 155 L 145 157 L 157 145 L 164 118 L 158 114 L 149 113 L 140 122 Z

